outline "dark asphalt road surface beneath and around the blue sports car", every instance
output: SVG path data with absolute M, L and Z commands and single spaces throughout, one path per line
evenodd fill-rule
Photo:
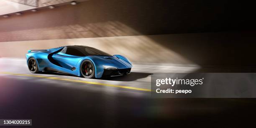
M 0 119 L 32 119 L 32 128 L 253 127 L 255 99 L 151 97 L 156 72 L 253 71 L 134 63 L 131 74 L 85 79 L 31 74 L 24 59 L 0 59 Z M 156 70 L 158 69 L 158 70 Z M 146 89 L 146 90 L 139 90 Z M 0 128 L 31 126 L 0 126 Z

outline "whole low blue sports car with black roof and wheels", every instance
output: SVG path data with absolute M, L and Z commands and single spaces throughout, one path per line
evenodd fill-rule
M 132 67 L 125 56 L 112 56 L 89 46 L 28 50 L 26 60 L 32 73 L 58 72 L 85 78 L 126 75 Z

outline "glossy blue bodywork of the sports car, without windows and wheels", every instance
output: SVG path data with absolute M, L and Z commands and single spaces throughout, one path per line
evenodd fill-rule
M 69 54 L 61 53 L 65 46 L 46 49 L 46 50 L 28 50 L 26 54 L 26 60 L 33 57 L 36 59 L 39 71 L 57 71 L 66 74 L 72 74 L 82 77 L 80 72 L 80 66 L 84 60 L 90 60 L 95 67 L 95 78 L 102 77 L 104 72 L 103 65 L 116 67 L 117 69 L 131 69 L 131 62 L 124 56 L 73 56 Z

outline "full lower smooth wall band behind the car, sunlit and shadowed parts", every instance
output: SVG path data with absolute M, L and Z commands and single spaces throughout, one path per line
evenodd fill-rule
M 2 42 L 1 57 L 24 58 L 28 49 L 92 46 L 133 62 L 255 66 L 255 33 L 188 33 Z

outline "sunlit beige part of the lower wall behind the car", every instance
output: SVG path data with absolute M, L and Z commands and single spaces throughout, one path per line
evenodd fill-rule
M 160 38 L 165 36 L 168 35 L 161 35 Z M 125 55 L 133 62 L 192 63 L 174 51 L 157 44 L 151 38 L 155 38 L 155 36 L 120 36 L 2 42 L 0 56 L 24 58 L 29 49 L 50 49 L 67 45 L 85 45 L 95 47 L 110 54 Z

